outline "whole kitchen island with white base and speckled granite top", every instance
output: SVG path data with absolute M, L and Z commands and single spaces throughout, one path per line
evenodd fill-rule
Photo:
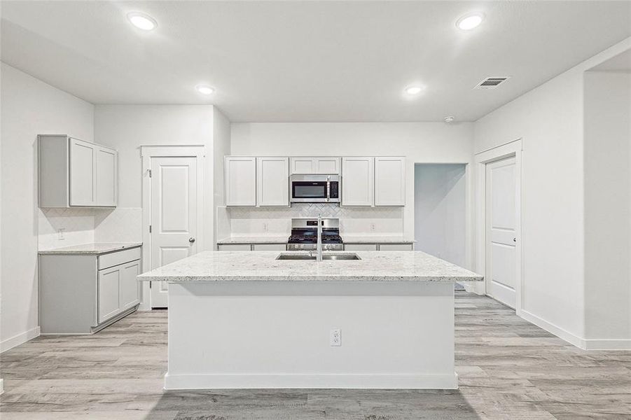
M 454 282 L 483 277 L 419 251 L 327 254 L 359 259 L 206 251 L 141 274 L 169 282 L 165 388 L 457 388 Z

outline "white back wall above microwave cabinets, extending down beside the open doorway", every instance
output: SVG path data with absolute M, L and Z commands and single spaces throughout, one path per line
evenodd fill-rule
M 405 156 L 403 235 L 414 236 L 414 163 L 469 163 L 472 124 L 234 123 L 232 155 Z M 470 188 L 470 183 L 468 182 Z

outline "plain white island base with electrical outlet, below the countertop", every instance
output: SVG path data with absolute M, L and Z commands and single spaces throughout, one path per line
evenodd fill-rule
M 166 389 L 458 386 L 452 281 L 174 282 L 168 345 Z

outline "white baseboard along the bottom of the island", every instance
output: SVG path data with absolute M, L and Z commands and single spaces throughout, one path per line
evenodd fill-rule
M 458 374 L 165 374 L 165 389 L 457 389 Z

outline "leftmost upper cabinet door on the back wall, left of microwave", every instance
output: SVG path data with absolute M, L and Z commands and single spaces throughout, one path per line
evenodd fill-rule
M 227 156 L 226 206 L 256 206 L 256 158 Z

